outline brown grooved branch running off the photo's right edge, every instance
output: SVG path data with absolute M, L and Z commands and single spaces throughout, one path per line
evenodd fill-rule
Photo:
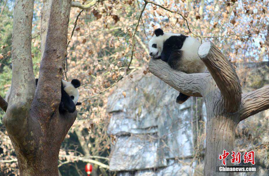
M 242 95 L 240 121 L 269 108 L 269 86 Z

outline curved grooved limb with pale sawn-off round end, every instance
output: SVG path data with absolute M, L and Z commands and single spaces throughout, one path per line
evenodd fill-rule
M 225 110 L 230 113 L 237 112 L 241 103 L 242 90 L 233 66 L 212 42 L 202 43 L 198 55 L 220 89 Z

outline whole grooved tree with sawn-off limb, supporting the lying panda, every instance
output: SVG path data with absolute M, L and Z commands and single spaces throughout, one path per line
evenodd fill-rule
M 237 124 L 269 108 L 269 86 L 242 94 L 239 78 L 229 61 L 211 42 L 199 47 L 198 55 L 210 73 L 186 74 L 174 71 L 162 60 L 151 59 L 149 70 L 176 90 L 203 97 L 207 109 L 206 155 L 204 176 L 233 176 L 217 173 L 223 150 L 231 153 L 235 146 Z M 226 165 L 231 165 L 226 158 Z

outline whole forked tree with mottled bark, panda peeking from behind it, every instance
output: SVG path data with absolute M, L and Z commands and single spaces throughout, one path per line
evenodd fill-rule
M 65 116 L 58 111 L 71 0 L 52 0 L 51 4 L 45 7 L 50 14 L 46 14 L 49 20 L 37 87 L 31 57 L 34 1 L 16 0 L 14 7 L 12 84 L 3 123 L 21 176 L 58 175 L 60 145 L 77 116 L 76 111 Z M 3 110 L 6 105 L 0 99 Z

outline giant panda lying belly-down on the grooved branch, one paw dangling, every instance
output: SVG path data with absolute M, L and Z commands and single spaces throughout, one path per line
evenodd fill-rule
M 207 67 L 198 56 L 201 43 L 195 38 L 182 34 L 154 31 L 155 36 L 149 41 L 149 55 L 154 59 L 161 59 L 177 71 L 185 73 L 202 73 Z M 179 104 L 184 103 L 190 96 L 180 93 L 176 98 Z

